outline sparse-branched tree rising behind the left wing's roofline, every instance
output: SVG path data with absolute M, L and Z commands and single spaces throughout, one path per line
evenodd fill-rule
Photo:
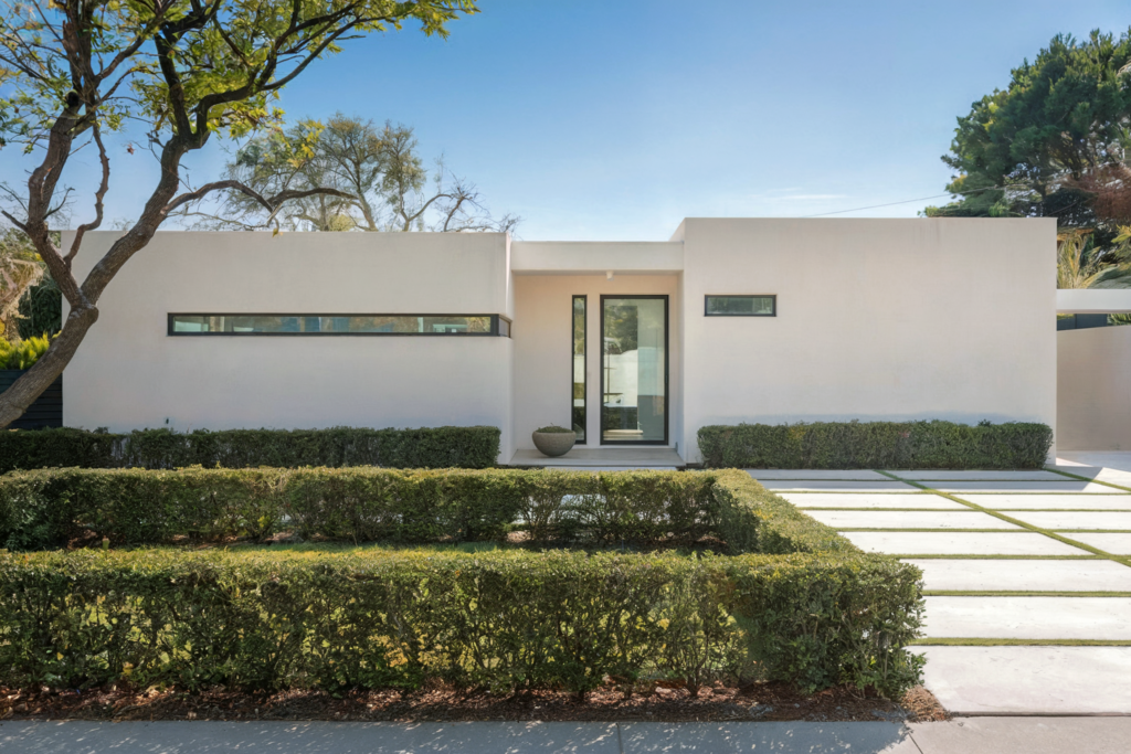
M 274 224 L 313 231 L 510 231 L 518 218 L 494 219 L 475 185 L 450 175 L 442 161 L 429 174 L 413 130 L 335 114 L 325 125 L 303 120 L 249 141 L 227 174 L 259 193 L 331 187 L 292 201 L 279 214 L 228 191 L 218 217 L 196 213 L 207 228 Z

